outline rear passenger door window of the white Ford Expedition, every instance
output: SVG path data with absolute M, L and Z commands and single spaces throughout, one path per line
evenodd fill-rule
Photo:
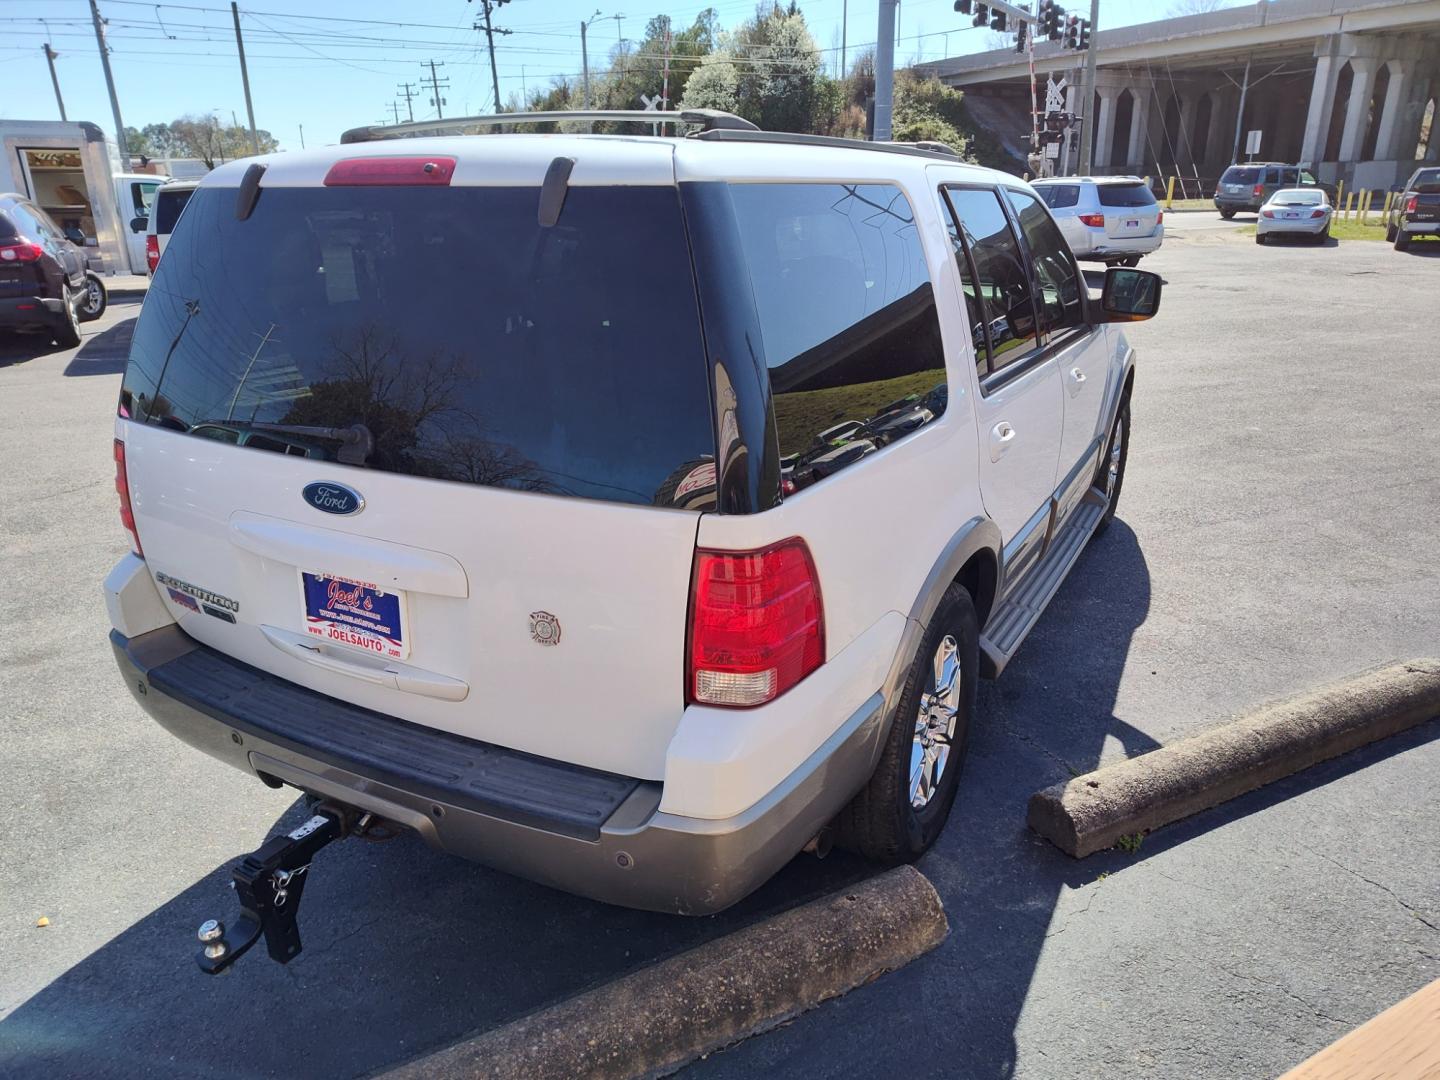
M 955 212 L 956 228 L 975 261 L 973 288 L 982 302 L 979 317 L 989 337 L 986 356 L 979 361 L 981 372 L 988 367 L 988 373 L 994 374 L 1028 356 L 1035 347 L 1030 278 L 1020 242 L 999 204 L 999 193 L 989 187 L 945 190 Z

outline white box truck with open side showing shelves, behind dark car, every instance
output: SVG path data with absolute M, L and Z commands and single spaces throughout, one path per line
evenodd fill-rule
M 86 121 L 0 120 L 0 192 L 19 192 L 75 239 L 91 268 L 145 274 L 145 222 L 163 176 L 120 171 L 120 151 Z M 138 228 L 135 228 L 138 223 Z

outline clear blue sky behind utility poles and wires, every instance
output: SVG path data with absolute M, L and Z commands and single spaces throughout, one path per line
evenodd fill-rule
M 582 19 L 596 7 L 602 17 L 589 30 L 592 69 L 605 66 L 609 49 L 624 36 L 639 37 L 645 22 L 668 13 L 688 24 L 707 6 L 730 29 L 753 10 L 753 0 L 696 0 L 661 6 L 661 0 L 510 0 L 495 13 L 495 26 L 513 33 L 497 37 L 500 91 L 544 85 L 553 75 L 580 71 Z M 801 0 L 801 10 L 828 63 L 841 43 L 845 0 Z M 1168 0 L 1102 0 L 1103 26 L 1164 17 Z M 1073 10 L 1089 7 L 1074 0 Z M 128 127 L 174 120 L 187 112 L 233 111 L 245 122 L 235 32 L 228 0 L 99 0 L 109 20 L 111 65 Z M 433 115 L 422 62 L 433 59 L 446 115 L 491 108 L 490 63 L 484 35 L 471 29 L 480 17 L 467 0 L 243 0 L 240 3 L 255 121 L 282 148 L 333 143 L 359 124 L 390 117 L 399 85 L 418 92 L 415 117 Z M 848 0 L 851 50 L 876 37 L 876 0 Z M 369 22 L 364 22 L 369 20 Z M 901 0 L 897 59 L 935 60 L 988 48 L 984 30 L 953 12 L 953 0 Z M 56 52 L 60 91 L 71 120 L 89 120 L 109 131 L 109 101 L 101 72 L 86 0 L 0 0 L 0 71 L 4 94 L 0 118 L 58 120 L 42 45 Z M 638 105 L 638 102 L 636 102 Z M 402 117 L 405 104 L 400 102 Z

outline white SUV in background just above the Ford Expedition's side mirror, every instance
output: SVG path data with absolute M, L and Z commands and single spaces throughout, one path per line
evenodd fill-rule
M 1165 212 L 1138 176 L 1067 176 L 1035 180 L 1079 258 L 1133 266 L 1165 240 Z

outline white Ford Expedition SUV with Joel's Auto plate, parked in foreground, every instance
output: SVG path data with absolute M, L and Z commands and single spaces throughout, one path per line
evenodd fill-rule
M 1115 514 L 1161 282 L 1092 295 L 1012 176 L 701 121 L 204 179 L 115 422 L 147 713 L 644 909 L 935 841 L 976 678 Z

